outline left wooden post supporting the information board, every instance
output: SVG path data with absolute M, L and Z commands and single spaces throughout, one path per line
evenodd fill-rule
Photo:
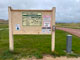
M 8 7 L 8 18 L 9 18 L 9 50 L 14 50 L 13 32 L 12 32 L 12 21 L 11 21 L 11 7 Z

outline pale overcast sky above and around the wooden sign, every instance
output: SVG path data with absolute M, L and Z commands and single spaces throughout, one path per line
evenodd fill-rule
M 56 22 L 80 22 L 80 0 L 0 0 L 0 19 L 8 19 L 8 6 L 13 9 L 56 7 Z

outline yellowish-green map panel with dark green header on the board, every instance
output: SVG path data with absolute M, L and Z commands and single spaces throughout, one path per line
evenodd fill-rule
M 41 26 L 41 12 L 22 12 L 22 24 L 24 26 Z

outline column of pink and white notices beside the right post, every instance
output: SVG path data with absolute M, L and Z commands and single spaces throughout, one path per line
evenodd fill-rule
M 43 16 L 42 32 L 51 33 L 51 16 L 50 15 Z

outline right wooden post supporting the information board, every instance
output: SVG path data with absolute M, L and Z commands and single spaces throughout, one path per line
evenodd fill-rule
M 52 9 L 52 52 L 55 50 L 55 10 L 56 8 L 54 7 Z

